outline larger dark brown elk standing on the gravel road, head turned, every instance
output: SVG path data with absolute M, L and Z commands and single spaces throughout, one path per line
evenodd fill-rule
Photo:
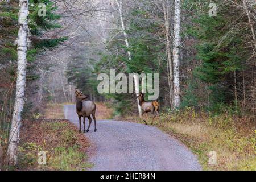
M 90 129 L 90 123 L 92 123 L 92 118 L 90 115 L 92 114 L 93 121 L 94 121 L 94 132 L 97 131 L 96 129 L 96 104 L 93 101 L 87 100 L 88 96 L 82 94 L 79 90 L 75 90 L 76 94 L 76 113 L 79 117 L 79 132 L 81 132 L 81 117 L 84 118 L 84 132 L 85 132 L 85 118 L 89 119 L 89 126 L 86 132 Z

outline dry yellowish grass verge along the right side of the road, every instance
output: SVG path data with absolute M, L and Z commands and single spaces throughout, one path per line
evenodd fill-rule
M 141 122 L 136 117 L 129 121 Z M 166 133 L 186 144 L 205 170 L 256 170 L 256 131 L 250 117 L 222 114 L 210 117 L 188 109 L 183 113 L 162 113 L 150 120 Z M 209 165 L 209 152 L 217 152 L 217 165 Z

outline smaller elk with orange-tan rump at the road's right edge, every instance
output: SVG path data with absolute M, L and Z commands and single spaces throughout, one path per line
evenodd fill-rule
M 146 119 L 143 118 L 143 115 L 144 114 L 147 115 L 147 113 L 150 112 L 151 114 L 156 113 L 159 116 L 159 103 L 158 103 L 158 101 L 146 102 L 144 100 L 143 93 L 139 93 L 137 98 L 139 99 L 139 105 L 141 106 L 141 109 L 142 109 L 142 119 L 145 122 L 145 124 L 147 125 Z

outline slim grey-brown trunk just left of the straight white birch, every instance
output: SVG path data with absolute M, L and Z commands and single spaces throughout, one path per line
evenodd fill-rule
M 163 3 L 163 13 L 164 13 L 164 28 L 166 36 L 166 55 L 167 55 L 167 71 L 168 71 L 168 84 L 170 92 L 170 106 L 173 109 L 174 106 L 174 72 L 172 65 L 172 55 L 171 55 L 171 40 L 170 40 L 170 23 L 169 23 L 169 9 L 165 3 Z

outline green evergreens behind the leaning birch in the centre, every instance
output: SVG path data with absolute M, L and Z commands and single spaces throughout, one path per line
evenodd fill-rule
M 126 75 L 128 73 L 165 74 L 166 61 L 161 58 L 165 55 L 165 44 L 156 39 L 156 34 L 159 34 L 159 31 L 162 30 L 160 25 L 160 22 L 154 22 L 150 19 L 148 10 L 131 10 L 129 22 L 126 23 L 130 48 L 125 46 L 125 42 L 109 42 L 106 45 L 106 52 L 99 54 L 100 60 L 94 65 L 94 72 L 107 73 L 109 75 L 110 69 L 115 68 L 116 75 L 119 72 Z M 116 35 L 117 32 L 114 31 L 112 34 Z M 123 39 L 123 34 L 118 34 L 118 38 Z M 131 52 L 130 60 L 127 51 Z M 162 67 L 160 67 L 160 64 Z M 75 69 L 73 71 L 75 72 Z M 75 74 L 73 73 L 73 75 Z M 88 75 L 88 73 L 86 74 Z M 86 80 L 85 75 L 84 80 Z M 84 80 L 81 81 L 85 82 Z M 160 81 L 166 84 L 165 80 Z M 97 86 L 89 85 L 92 87 Z M 164 95 L 163 92 L 160 94 Z M 105 94 L 104 96 L 112 101 L 115 115 L 132 114 L 138 111 L 135 94 Z

